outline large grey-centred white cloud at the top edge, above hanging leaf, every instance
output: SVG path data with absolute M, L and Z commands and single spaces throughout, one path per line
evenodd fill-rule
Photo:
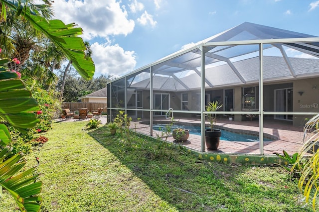
M 57 19 L 78 24 L 84 30 L 82 37 L 87 40 L 133 31 L 134 20 L 128 19 L 120 3 L 116 0 L 54 0 L 53 7 Z

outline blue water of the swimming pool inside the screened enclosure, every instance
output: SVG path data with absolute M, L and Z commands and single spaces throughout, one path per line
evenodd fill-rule
M 165 131 L 166 124 L 154 124 L 153 129 L 159 131 Z M 189 130 L 189 134 L 201 135 L 200 134 L 200 126 L 185 126 L 185 125 L 172 125 L 172 129 L 174 128 L 185 128 Z M 257 135 L 248 135 L 248 134 L 239 134 L 236 132 L 230 132 L 228 130 L 220 129 L 221 137 L 220 140 L 225 141 L 244 141 L 244 142 L 259 142 L 259 136 Z M 272 141 L 271 139 L 265 138 L 264 141 Z

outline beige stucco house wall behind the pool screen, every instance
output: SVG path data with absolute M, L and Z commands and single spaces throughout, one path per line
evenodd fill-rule
M 242 88 L 243 87 L 253 87 L 256 86 L 256 108 L 259 107 L 259 94 L 258 94 L 258 84 L 255 85 L 245 85 L 237 86 L 234 89 L 234 110 L 241 111 L 242 107 Z M 313 87 L 316 86 L 316 89 Z M 274 111 L 274 90 L 277 89 L 287 89 L 293 88 L 293 111 L 294 112 L 318 112 L 319 113 L 319 78 L 303 79 L 303 80 L 292 80 L 276 83 L 264 83 L 264 111 Z M 304 92 L 301 96 L 298 92 Z M 165 93 L 165 92 L 163 92 Z M 181 109 L 181 93 L 178 92 L 168 92 L 170 94 L 170 107 L 174 110 Z M 199 91 L 188 91 L 182 92 L 188 93 L 188 110 L 200 110 L 198 107 L 198 101 L 200 101 Z M 216 99 L 216 97 L 223 101 L 222 89 L 206 91 L 206 94 L 210 94 L 210 101 Z M 143 107 L 144 109 L 150 108 L 150 92 L 143 92 Z M 173 98 L 174 97 L 174 98 Z M 214 99 L 215 98 L 215 99 Z M 199 102 L 200 103 L 200 102 Z M 184 116 L 191 116 L 195 114 L 184 114 Z M 144 117 L 148 118 L 150 116 L 149 112 L 144 112 Z M 305 118 L 310 118 L 305 115 L 295 115 L 293 117 L 294 126 L 303 126 L 305 124 Z M 268 115 L 264 117 L 265 119 L 273 119 L 274 115 Z M 235 120 L 242 120 L 241 114 L 235 114 Z

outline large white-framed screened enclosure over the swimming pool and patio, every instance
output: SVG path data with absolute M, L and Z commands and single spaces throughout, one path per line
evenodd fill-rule
M 206 152 L 205 106 L 216 100 L 216 127 L 256 136 L 221 138 L 216 151 L 297 152 L 305 118 L 319 112 L 319 37 L 245 22 L 109 83 L 108 119 L 124 110 L 131 128 L 156 137 L 153 126 L 173 116 L 199 128 L 182 145 Z

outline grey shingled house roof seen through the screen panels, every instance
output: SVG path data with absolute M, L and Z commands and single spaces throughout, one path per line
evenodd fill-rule
M 299 77 L 308 77 L 311 74 L 319 76 L 319 60 L 310 58 L 289 58 L 295 72 Z M 234 66 L 241 71 L 241 75 L 248 83 L 258 83 L 259 81 L 259 57 L 254 57 L 242 61 L 234 62 Z M 241 85 L 242 82 L 228 65 L 221 65 L 206 69 L 206 78 L 214 87 L 225 85 Z M 265 56 L 264 57 L 264 81 L 273 80 L 293 80 L 287 64 L 281 57 Z M 180 78 L 180 81 L 189 85 L 189 89 L 198 89 L 200 87 L 200 76 L 196 73 Z M 166 91 L 183 91 L 186 90 L 182 84 L 176 82 L 173 78 L 167 76 L 154 76 L 153 88 L 162 90 L 163 86 Z M 206 87 L 208 85 L 206 84 Z M 149 89 L 150 79 L 132 84 L 130 88 Z

